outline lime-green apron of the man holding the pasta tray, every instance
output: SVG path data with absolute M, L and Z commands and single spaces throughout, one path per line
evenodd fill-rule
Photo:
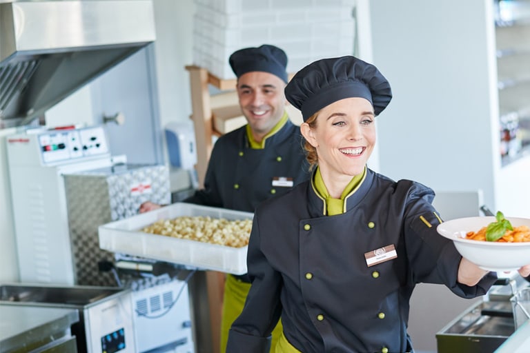
M 223 315 L 221 318 L 220 352 L 222 353 L 226 352 L 228 330 L 230 330 L 230 326 L 232 326 L 232 323 L 237 319 L 237 316 L 243 311 L 245 299 L 249 290 L 251 290 L 251 283 L 239 281 L 231 274 L 226 275 L 226 281 L 224 282 Z M 273 330 L 271 347 L 275 347 L 283 330 L 282 321 L 278 321 L 278 324 Z M 274 352 L 273 348 L 271 349 L 271 352 Z

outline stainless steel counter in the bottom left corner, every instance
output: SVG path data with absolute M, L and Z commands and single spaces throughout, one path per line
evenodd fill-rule
M 0 353 L 28 352 L 72 339 L 75 349 L 70 325 L 77 321 L 75 309 L 0 304 Z

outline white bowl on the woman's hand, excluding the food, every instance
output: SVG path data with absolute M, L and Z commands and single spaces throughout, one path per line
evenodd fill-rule
M 530 219 L 506 217 L 513 227 L 528 225 Z M 494 216 L 465 217 L 452 219 L 438 225 L 438 233 L 451 239 L 456 250 L 480 268 L 494 272 L 518 270 L 530 264 L 530 242 L 498 243 L 465 239 L 467 232 L 478 232 L 480 228 L 495 222 Z

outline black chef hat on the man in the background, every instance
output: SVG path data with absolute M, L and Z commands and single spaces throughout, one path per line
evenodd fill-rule
M 275 46 L 264 44 L 257 48 L 244 48 L 233 52 L 228 60 L 237 78 L 251 71 L 274 74 L 287 83 L 287 55 Z

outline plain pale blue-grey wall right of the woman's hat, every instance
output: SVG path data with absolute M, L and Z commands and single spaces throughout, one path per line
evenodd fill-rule
M 492 7 L 489 0 L 371 2 L 373 59 L 393 90 L 378 122 L 382 173 L 434 190 L 480 188 L 493 210 Z

